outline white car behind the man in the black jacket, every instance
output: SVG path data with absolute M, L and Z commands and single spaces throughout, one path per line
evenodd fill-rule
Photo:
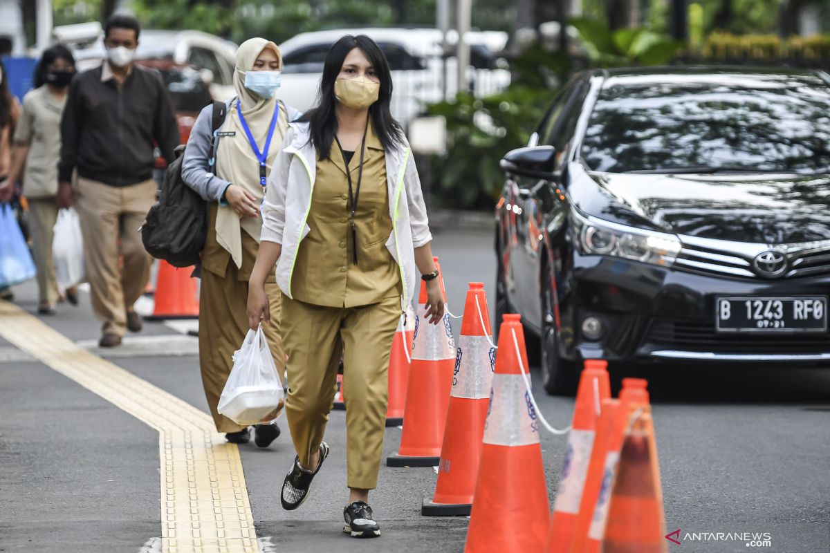
M 100 26 L 98 27 L 100 29 Z M 56 30 L 60 36 L 61 27 Z M 218 36 L 199 31 L 142 30 L 136 60 L 167 60 L 173 64 L 190 65 L 199 70 L 214 99 L 233 97 L 233 65 L 237 46 Z M 104 43 L 100 33 L 94 41 L 73 51 L 78 68 L 90 69 L 104 60 Z

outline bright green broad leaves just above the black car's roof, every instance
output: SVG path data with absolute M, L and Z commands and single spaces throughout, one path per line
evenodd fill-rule
M 572 19 L 571 24 L 594 65 L 666 65 L 683 48 L 681 41 L 645 27 L 611 31 L 601 20 L 589 17 Z

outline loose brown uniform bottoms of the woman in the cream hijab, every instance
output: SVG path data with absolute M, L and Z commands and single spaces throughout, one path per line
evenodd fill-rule
M 243 261 L 245 263 L 245 261 Z M 248 332 L 248 282 L 239 280 L 239 269 L 233 262 L 227 264 L 225 276 L 202 269 L 199 289 L 199 366 L 207 406 L 213 415 L 217 432 L 239 432 L 246 428 L 217 412 L 219 397 L 225 389 L 227 377 L 233 368 L 233 352 L 242 347 Z M 280 289 L 266 283 L 266 294 L 271 307 L 271 324 L 263 324 L 268 347 L 282 379 L 286 354 L 280 338 Z

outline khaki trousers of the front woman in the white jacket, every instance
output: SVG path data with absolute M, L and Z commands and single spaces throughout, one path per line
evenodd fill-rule
M 400 316 L 398 296 L 358 308 L 322 307 L 282 296 L 282 339 L 288 355 L 286 418 L 305 467 L 320 448 L 334 405 L 340 353 L 344 354 L 349 488 L 378 487 L 389 351 Z

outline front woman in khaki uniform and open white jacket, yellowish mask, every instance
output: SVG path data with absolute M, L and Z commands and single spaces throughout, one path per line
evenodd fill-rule
M 266 192 L 262 242 L 248 293 L 249 326 L 268 323 L 266 279 L 281 296 L 288 355 L 286 417 L 297 452 L 281 492 L 295 509 L 329 454 L 323 441 L 344 352 L 349 505 L 344 531 L 380 535 L 377 487 L 398 321 L 427 280 L 427 317 L 444 305 L 421 183 L 392 118 L 392 75 L 367 36 L 344 36 L 325 59 L 317 107 L 292 124 Z

